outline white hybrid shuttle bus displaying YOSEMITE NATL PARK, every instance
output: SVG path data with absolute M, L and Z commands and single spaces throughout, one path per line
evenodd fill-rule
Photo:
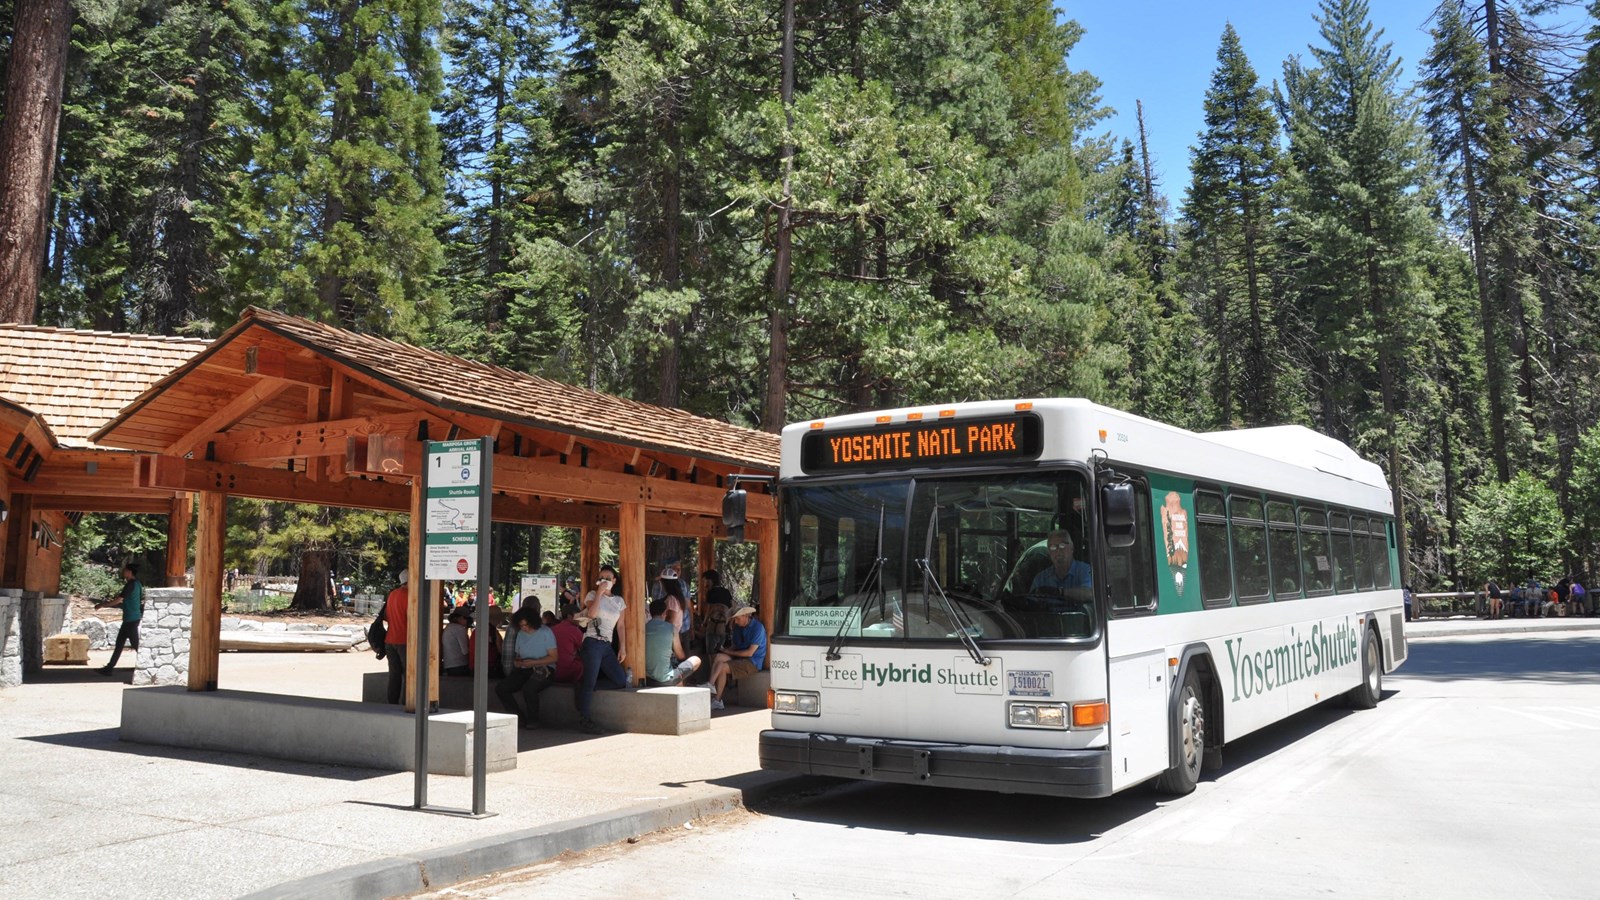
M 1389 487 L 1086 400 L 792 424 L 765 769 L 1102 798 L 1405 661 Z

